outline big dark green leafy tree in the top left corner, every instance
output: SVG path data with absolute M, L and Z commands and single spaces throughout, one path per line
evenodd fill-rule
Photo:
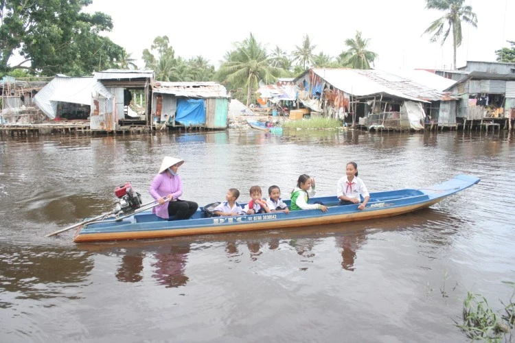
M 91 0 L 3 0 L 0 71 L 84 75 L 98 66 L 116 67 L 124 49 L 99 35 L 113 29 L 111 16 L 82 12 L 89 4 Z M 16 52 L 24 60 L 12 66 Z

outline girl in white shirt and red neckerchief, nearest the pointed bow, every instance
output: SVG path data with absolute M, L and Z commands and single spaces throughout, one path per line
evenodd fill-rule
M 358 165 L 356 162 L 349 162 L 345 166 L 345 174 L 338 184 L 336 184 L 336 196 L 340 200 L 341 205 L 359 204 L 361 202 L 360 194 L 363 196 L 363 204 L 358 209 L 363 210 L 367 206 L 370 194 L 365 187 L 365 183 L 358 178 Z

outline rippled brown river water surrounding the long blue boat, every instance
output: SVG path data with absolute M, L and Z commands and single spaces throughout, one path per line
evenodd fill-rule
M 249 131 L 0 138 L 0 342 L 467 342 L 467 292 L 494 310 L 515 281 L 515 139 L 507 132 Z M 299 174 L 336 193 L 356 161 L 369 191 L 455 174 L 479 185 L 429 209 L 363 222 L 153 241 L 74 244 L 47 233 L 144 202 L 163 156 L 185 159 L 184 197 Z

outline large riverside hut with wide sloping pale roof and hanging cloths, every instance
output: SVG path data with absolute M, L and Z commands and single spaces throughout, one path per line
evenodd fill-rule
M 458 97 L 385 71 L 314 68 L 293 82 L 299 102 L 315 113 L 369 130 L 457 125 Z

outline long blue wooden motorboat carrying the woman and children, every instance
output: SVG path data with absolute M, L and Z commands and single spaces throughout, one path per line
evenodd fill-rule
M 360 211 L 358 204 L 339 205 L 336 196 L 312 198 L 329 207 L 327 213 L 320 210 L 240 215 L 237 217 L 205 217 L 202 209 L 190 220 L 162 220 L 150 211 L 135 213 L 122 220 L 90 222 L 78 228 L 73 241 L 112 241 L 117 239 L 149 239 L 180 235 L 236 232 L 293 228 L 391 217 L 423 209 L 436 204 L 447 196 L 477 184 L 479 178 L 460 174 L 446 182 L 423 189 L 399 189 L 370 193 L 367 207 Z M 285 200 L 289 205 L 290 200 Z

